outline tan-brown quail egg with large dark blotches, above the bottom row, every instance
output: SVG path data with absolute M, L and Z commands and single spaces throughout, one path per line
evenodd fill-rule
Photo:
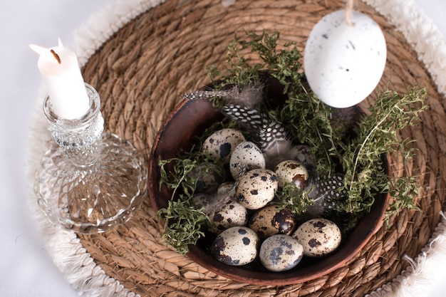
M 261 239 L 274 234 L 291 235 L 296 226 L 296 218 L 289 209 L 267 205 L 251 215 L 248 226 L 256 231 Z

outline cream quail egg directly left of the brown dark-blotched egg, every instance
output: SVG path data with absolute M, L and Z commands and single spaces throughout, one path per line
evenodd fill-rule
M 248 211 L 238 202 L 229 200 L 223 207 L 210 217 L 211 225 L 209 231 L 219 234 L 233 226 L 246 226 L 248 222 Z

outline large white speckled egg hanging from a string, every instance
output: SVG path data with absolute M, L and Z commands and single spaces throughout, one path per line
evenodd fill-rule
M 318 98 L 333 108 L 347 108 L 364 100 L 378 85 L 387 48 L 380 26 L 370 17 L 344 10 L 324 16 L 313 27 L 305 46 L 308 84 Z

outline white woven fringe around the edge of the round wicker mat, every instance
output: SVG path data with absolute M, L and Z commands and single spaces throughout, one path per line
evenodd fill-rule
M 118 0 L 105 7 L 83 24 L 76 32 L 76 53 L 81 65 L 84 65 L 90 56 L 105 43 L 110 36 L 125 24 L 142 14 L 142 12 L 158 6 L 165 0 Z M 446 94 L 446 44 L 441 33 L 432 24 L 413 0 L 363 0 L 383 14 L 390 24 L 400 30 L 411 46 L 417 51 L 418 58 L 425 64 L 427 71 L 437 84 L 438 91 Z M 223 0 L 222 4 L 232 5 L 234 0 Z M 43 152 L 48 150 L 50 136 L 46 129 L 46 119 L 41 113 L 41 98 L 43 90 L 38 92 L 38 106 L 33 121 L 33 130 L 30 135 L 30 151 L 28 153 L 28 174 L 31 182 L 34 172 L 38 168 Z M 96 265 L 90 254 L 83 248 L 81 242 L 73 231 L 61 229 L 49 223 L 31 192 L 30 207 L 34 214 L 36 224 L 41 231 L 48 254 L 54 264 L 61 270 L 68 283 L 75 288 L 80 296 L 92 297 L 133 297 L 139 296 L 115 278 L 108 276 L 100 266 Z M 370 297 L 384 296 L 426 296 L 432 286 L 436 271 L 435 267 L 446 264 L 446 218 L 442 214 L 442 222 L 432 234 L 429 244 L 422 249 L 420 255 L 409 261 L 410 266 L 392 282 L 385 284 L 377 291 L 370 293 Z

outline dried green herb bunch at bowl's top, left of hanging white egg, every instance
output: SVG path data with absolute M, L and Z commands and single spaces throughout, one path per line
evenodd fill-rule
M 246 40 L 239 40 L 236 36 L 228 46 L 227 68 L 220 70 L 211 66 L 208 68 L 209 76 L 217 89 L 261 82 L 262 73 L 279 80 L 287 95 L 285 104 L 271 109 L 266 101 L 259 106 L 259 110 L 288 127 L 294 140 L 306 143 L 316 158 L 319 170 L 331 172 L 335 166 L 333 155 L 339 155 L 336 154 L 336 143 L 341 142 L 331 127 L 332 108 L 321 103 L 310 91 L 302 69 L 301 51 L 295 43 L 285 43 L 279 48 L 279 37 L 277 31 L 271 35 L 266 31 L 261 34 L 247 33 Z M 247 55 L 247 51 L 254 55 L 245 58 L 243 53 Z M 216 107 L 222 104 L 217 98 L 213 103 Z M 321 142 L 325 143 L 321 146 Z

